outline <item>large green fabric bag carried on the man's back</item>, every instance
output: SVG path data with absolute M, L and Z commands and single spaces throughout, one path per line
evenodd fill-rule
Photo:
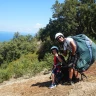
M 77 60 L 76 69 L 79 72 L 86 71 L 92 65 L 92 44 L 91 40 L 84 34 L 70 36 L 77 45 L 79 59 Z

